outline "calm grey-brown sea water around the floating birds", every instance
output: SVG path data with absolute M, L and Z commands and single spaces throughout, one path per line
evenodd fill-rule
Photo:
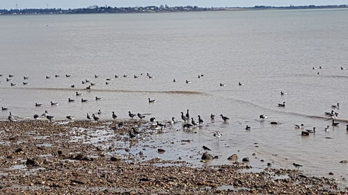
M 168 144 L 168 159 L 190 153 L 183 160 L 197 162 L 197 151 L 205 145 L 221 156 L 213 164 L 229 163 L 228 155 L 239 153 L 256 167 L 274 161 L 292 168 L 296 162 L 307 173 L 328 176 L 331 171 L 342 182 L 348 177 L 348 165 L 339 163 L 348 160 L 347 17 L 348 10 L 2 16 L 0 105 L 23 118 L 48 110 L 56 119 L 86 119 L 87 112 L 100 109 L 102 119 L 111 119 L 111 111 L 127 119 L 131 111 L 179 121 L 180 112 L 189 108 L 191 116 L 203 117 L 205 126 L 193 130 L 197 133 L 159 135 L 159 140 L 193 139 L 192 144 Z M 324 68 L 312 69 L 319 66 Z M 15 75 L 17 86 L 6 82 L 8 74 Z M 129 77 L 114 78 L 123 74 Z M 113 78 L 111 85 L 105 85 L 106 78 Z M 85 79 L 97 84 L 93 90 L 82 90 L 88 86 L 81 83 Z M 89 102 L 81 103 L 76 91 Z M 280 96 L 280 91 L 288 95 Z M 95 96 L 103 100 L 95 101 Z M 68 98 L 76 102 L 68 103 Z M 157 103 L 149 105 L 148 98 Z M 283 101 L 285 108 L 278 108 Z M 35 108 L 35 102 L 44 105 Z M 338 102 L 335 112 L 343 121 L 326 133 L 331 119 L 322 117 Z M 230 121 L 223 123 L 220 114 Z M 260 121 L 262 114 L 269 118 Z M 1 119 L 8 115 L 0 112 Z M 280 124 L 272 126 L 271 121 Z M 315 126 L 317 133 L 301 137 L 294 124 Z M 220 140 L 212 137 L 214 130 L 223 134 Z

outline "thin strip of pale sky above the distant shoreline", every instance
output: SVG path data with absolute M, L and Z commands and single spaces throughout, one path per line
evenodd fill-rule
M 251 7 L 251 6 L 303 6 L 342 5 L 348 0 L 0 0 L 0 9 L 14 8 L 87 8 L 88 6 L 199 6 L 199 7 Z M 17 6 L 16 6 L 17 5 Z

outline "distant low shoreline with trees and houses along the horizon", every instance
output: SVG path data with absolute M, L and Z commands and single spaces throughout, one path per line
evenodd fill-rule
M 198 6 L 147 6 L 134 8 L 111 8 L 91 6 L 90 8 L 77 8 L 64 10 L 61 8 L 47 9 L 0 9 L 0 15 L 66 15 L 66 14 L 114 14 L 114 13 L 154 13 L 154 12 L 201 12 L 201 11 L 244 11 L 244 10 L 319 10 L 319 9 L 347 9 L 348 5 L 329 5 L 329 6 L 254 6 L 236 8 L 199 8 Z

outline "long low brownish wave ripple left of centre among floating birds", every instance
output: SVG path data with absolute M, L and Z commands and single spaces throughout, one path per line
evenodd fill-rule
M 86 89 L 77 88 L 49 88 L 49 87 L 6 87 L 10 90 L 46 90 L 46 91 L 87 91 Z M 88 92 L 116 92 L 116 93 L 148 93 L 148 94 L 187 94 L 187 95 L 202 95 L 207 96 L 209 94 L 205 92 L 198 91 L 151 91 L 151 90 L 100 90 L 100 89 L 90 89 Z

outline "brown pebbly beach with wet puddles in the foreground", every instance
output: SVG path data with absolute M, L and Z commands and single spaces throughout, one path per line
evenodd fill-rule
M 144 160 L 130 149 L 161 133 L 146 121 L 0 121 L 0 133 L 0 194 L 348 194 L 295 169 Z

